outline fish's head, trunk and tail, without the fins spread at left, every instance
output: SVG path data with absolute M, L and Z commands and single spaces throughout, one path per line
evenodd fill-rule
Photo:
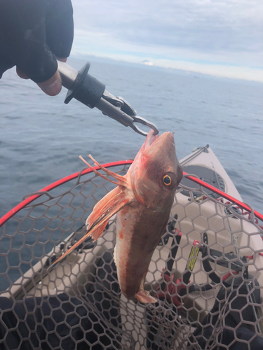
M 164 176 L 170 184 L 163 183 Z M 115 261 L 123 295 L 141 302 L 155 302 L 144 291 L 151 256 L 166 229 L 182 168 L 175 154 L 173 133 L 147 136 L 126 174 L 133 202 L 117 214 Z M 170 181 L 168 179 L 168 183 Z

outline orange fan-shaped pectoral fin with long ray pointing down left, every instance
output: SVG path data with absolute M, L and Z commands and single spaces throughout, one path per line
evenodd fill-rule
M 76 249 L 83 241 L 85 241 L 89 236 L 91 236 L 94 241 L 100 237 L 104 228 L 106 227 L 109 218 L 114 216 L 114 214 L 118 213 L 123 207 L 132 202 L 133 199 L 127 197 L 125 193 L 123 193 L 119 187 L 114 188 L 111 192 L 107 193 L 100 202 L 97 202 L 95 205 L 93 212 L 88 217 L 86 224 L 88 224 L 88 230 L 86 234 L 79 239 L 72 247 L 70 247 L 66 253 L 60 256 L 58 260 L 55 260 L 50 267 L 48 267 L 48 271 L 53 269 L 58 262 L 64 260 L 67 255 L 69 255 L 74 249 Z

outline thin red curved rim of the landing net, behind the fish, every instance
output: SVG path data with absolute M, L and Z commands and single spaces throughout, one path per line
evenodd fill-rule
M 133 160 L 119 160 L 116 162 L 109 162 L 102 165 L 102 167 L 109 168 L 109 167 L 116 167 L 116 166 L 123 166 L 123 165 L 131 165 L 133 163 Z M 94 167 L 96 170 L 100 170 L 100 167 Z M 76 172 L 74 174 L 65 176 L 64 178 L 55 181 L 53 183 L 50 183 L 50 185 L 42 188 L 38 191 L 35 195 L 30 195 L 25 200 L 22 200 L 18 205 L 13 207 L 10 211 L 8 211 L 4 216 L 0 218 L 0 227 L 6 223 L 10 218 L 12 218 L 15 214 L 18 213 L 21 209 L 24 209 L 27 204 L 32 203 L 37 198 L 41 197 L 44 193 L 53 190 L 54 188 L 57 188 L 60 185 L 63 185 L 64 183 L 67 183 L 73 179 L 76 179 L 78 176 L 83 176 L 86 174 L 89 174 L 90 172 L 93 172 L 92 169 L 83 169 L 80 172 Z M 184 177 L 187 179 L 194 181 L 195 183 L 198 183 L 198 185 L 203 186 L 204 188 L 213 191 L 217 195 L 220 195 L 220 197 L 223 197 L 226 200 L 229 200 L 229 202 L 232 202 L 233 204 L 238 205 L 238 207 L 241 207 L 245 211 L 248 211 L 250 214 L 254 215 L 256 218 L 258 218 L 260 221 L 263 221 L 263 215 L 260 214 L 258 211 L 255 211 L 254 209 L 251 209 L 247 204 L 236 200 L 236 198 L 232 197 L 231 195 L 228 195 L 227 193 L 224 193 L 222 190 L 219 190 L 218 188 L 215 188 L 212 185 L 209 185 L 208 183 L 205 183 L 204 181 L 198 179 L 197 176 L 193 174 L 187 174 L 186 172 L 183 172 Z M 41 193 L 43 192 L 43 193 Z

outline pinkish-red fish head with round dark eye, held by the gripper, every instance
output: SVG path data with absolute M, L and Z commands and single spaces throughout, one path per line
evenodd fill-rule
M 153 211 L 173 204 L 182 179 L 175 153 L 174 132 L 154 135 L 151 130 L 129 169 L 130 184 L 138 202 Z

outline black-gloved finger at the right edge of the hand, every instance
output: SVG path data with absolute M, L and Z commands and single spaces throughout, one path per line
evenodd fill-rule
M 74 35 L 70 0 L 50 0 L 46 9 L 46 41 L 57 57 L 69 57 Z

